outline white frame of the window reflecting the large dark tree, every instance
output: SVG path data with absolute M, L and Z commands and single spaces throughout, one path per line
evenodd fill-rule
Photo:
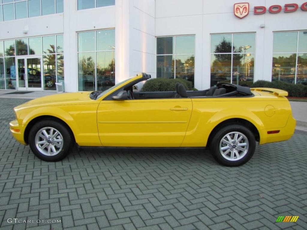
M 222 34 L 231 34 L 231 52 L 228 52 L 228 53 L 212 53 L 212 50 L 211 50 L 211 40 L 212 40 L 212 35 L 222 35 Z M 233 35 L 234 34 L 254 34 L 254 52 L 243 52 L 243 53 L 235 53 L 233 52 Z M 253 54 L 254 55 L 254 76 L 253 76 L 253 82 L 255 82 L 255 63 L 256 63 L 256 32 L 240 32 L 240 33 L 211 33 L 210 34 L 210 82 L 211 82 L 211 56 L 212 54 L 231 54 L 231 75 L 230 75 L 230 83 L 232 84 L 232 78 L 233 78 L 233 75 L 232 75 L 232 68 L 233 68 L 233 54 Z M 210 83 L 211 84 L 211 83 Z

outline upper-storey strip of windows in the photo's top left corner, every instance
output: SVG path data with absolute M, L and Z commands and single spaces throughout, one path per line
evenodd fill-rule
M 63 13 L 64 0 L 0 0 L 0 21 Z

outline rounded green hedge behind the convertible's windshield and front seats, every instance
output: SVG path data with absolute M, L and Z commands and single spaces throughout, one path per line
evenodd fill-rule
M 157 92 L 157 91 L 176 91 L 176 82 L 179 82 L 185 86 L 186 90 L 196 90 L 193 87 L 192 82 L 185 79 L 165 79 L 165 78 L 153 78 L 147 80 L 142 87 L 143 92 Z

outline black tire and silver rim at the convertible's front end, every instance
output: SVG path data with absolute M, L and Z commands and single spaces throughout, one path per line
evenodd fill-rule
M 39 133 L 40 130 L 42 129 L 46 129 L 47 134 L 53 133 L 56 134 L 55 130 L 53 130 L 51 132 L 51 129 L 49 128 L 53 128 L 56 131 L 59 132 L 60 135 L 57 135 L 54 137 L 55 140 L 62 140 L 62 142 L 56 142 L 55 144 L 53 144 L 54 142 L 51 141 L 52 137 L 50 139 L 50 144 L 53 145 L 53 148 L 56 150 L 51 154 L 54 155 L 48 155 L 48 146 L 50 144 L 48 144 L 45 148 L 39 150 L 39 147 L 37 146 L 37 138 L 39 138 L 39 140 L 44 141 L 42 137 L 39 137 Z M 48 133 L 48 130 L 50 130 L 50 132 Z M 38 135 L 38 137 L 37 137 Z M 58 139 L 57 139 L 58 138 Z M 63 138 L 63 139 L 61 139 Z M 48 140 L 48 137 L 46 137 L 45 140 Z M 37 143 L 36 143 L 37 142 Z M 53 142 L 53 143 L 52 143 Z M 59 144 L 60 143 L 60 144 Z M 60 146 L 56 146 L 56 144 L 60 145 Z M 41 145 L 41 147 L 43 147 L 44 144 Z M 71 151 L 71 149 L 73 148 L 74 145 L 74 138 L 72 136 L 72 133 L 70 132 L 70 130 L 68 130 L 68 128 L 61 124 L 60 122 L 56 121 L 56 120 L 52 120 L 52 119 L 45 119 L 42 121 L 37 122 L 36 124 L 33 125 L 33 127 L 31 128 L 30 132 L 29 132 L 29 146 L 32 150 L 32 152 L 40 159 L 44 160 L 44 161 L 60 161 L 62 160 L 64 157 L 66 157 L 68 155 L 68 153 Z M 51 152 L 52 152 L 52 148 L 50 148 Z M 43 154 L 42 152 L 46 152 L 45 154 Z

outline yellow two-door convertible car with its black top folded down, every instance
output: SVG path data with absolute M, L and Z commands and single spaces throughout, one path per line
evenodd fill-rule
M 10 131 L 45 161 L 63 159 L 74 144 L 95 147 L 209 147 L 225 166 L 254 154 L 256 141 L 288 140 L 296 121 L 287 92 L 219 83 L 208 90 L 142 92 L 142 73 L 106 91 L 64 93 L 14 108 Z M 269 154 L 269 153 L 268 153 Z

